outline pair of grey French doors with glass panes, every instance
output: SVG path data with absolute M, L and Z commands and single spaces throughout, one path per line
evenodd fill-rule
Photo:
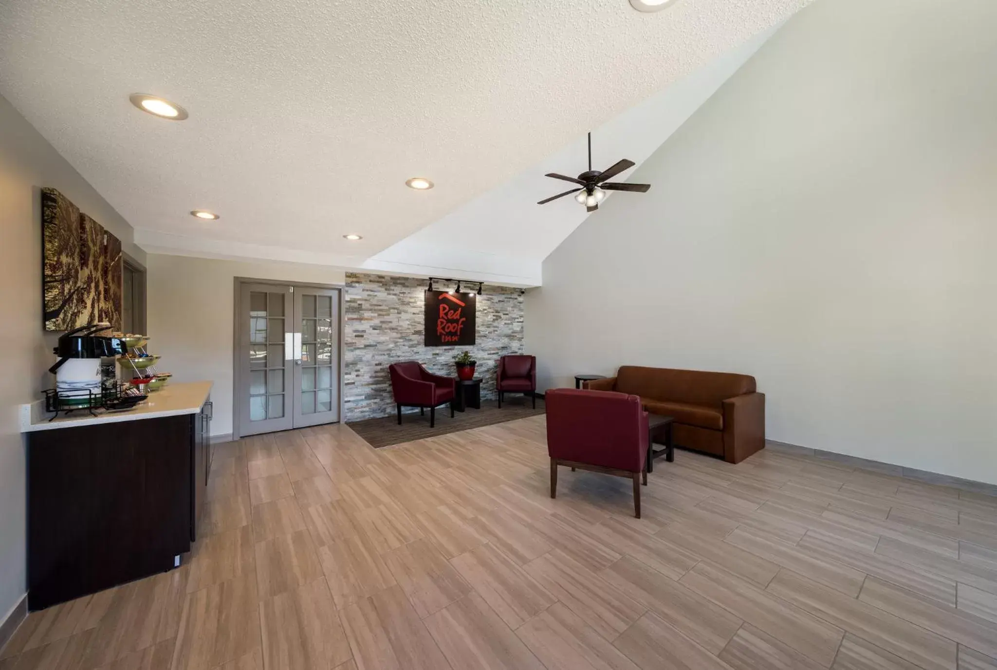
M 340 293 L 239 285 L 239 435 L 339 421 Z

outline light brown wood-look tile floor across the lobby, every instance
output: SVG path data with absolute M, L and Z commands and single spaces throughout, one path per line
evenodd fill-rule
M 561 469 L 544 417 L 215 450 L 184 564 L 32 613 L 0 670 L 997 669 L 997 499 L 767 449 Z

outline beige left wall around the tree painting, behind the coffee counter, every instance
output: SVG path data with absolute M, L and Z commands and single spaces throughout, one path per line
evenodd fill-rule
M 122 240 L 132 227 L 0 97 L 0 622 L 25 592 L 25 453 L 17 406 L 52 385 L 55 335 L 42 330 L 41 188 L 59 189 Z

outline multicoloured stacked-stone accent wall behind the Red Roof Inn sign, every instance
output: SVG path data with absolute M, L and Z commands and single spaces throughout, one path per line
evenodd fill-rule
M 388 365 L 418 360 L 436 374 L 456 377 L 454 356 L 468 348 L 478 361 L 482 397 L 496 397 L 496 365 L 507 353 L 522 353 L 522 296 L 518 289 L 485 286 L 476 297 L 477 343 L 426 346 L 425 296 L 428 282 L 411 277 L 346 274 L 343 293 L 344 420 L 395 413 Z M 477 289 L 477 285 L 475 285 Z M 449 286 L 437 288 L 448 289 Z M 407 411 L 418 411 L 411 409 Z

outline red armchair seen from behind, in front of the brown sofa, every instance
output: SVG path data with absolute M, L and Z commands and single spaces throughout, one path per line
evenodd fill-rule
M 640 480 L 647 485 L 647 412 L 640 397 L 612 391 L 553 388 L 546 392 L 550 497 L 557 494 L 557 466 L 633 479 L 633 507 L 640 519 Z M 640 477 L 638 477 L 638 475 Z

